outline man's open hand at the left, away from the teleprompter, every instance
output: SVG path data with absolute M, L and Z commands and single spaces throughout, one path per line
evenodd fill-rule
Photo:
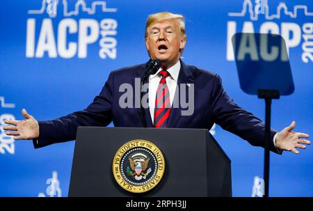
M 6 120 L 4 123 L 10 124 L 3 126 L 3 130 L 7 135 L 14 136 L 15 140 L 19 139 L 37 139 L 39 137 L 39 124 L 38 121 L 29 115 L 25 109 L 22 109 L 24 120 Z

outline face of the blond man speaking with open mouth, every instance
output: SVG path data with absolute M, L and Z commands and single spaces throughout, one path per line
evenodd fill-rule
M 145 38 L 145 46 L 152 59 L 159 59 L 163 68 L 175 65 L 181 56 L 186 40 L 179 33 L 175 19 L 167 19 L 151 24 Z

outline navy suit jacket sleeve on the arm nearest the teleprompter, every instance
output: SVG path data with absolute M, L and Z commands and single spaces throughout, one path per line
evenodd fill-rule
M 234 103 L 225 92 L 222 80 L 218 75 L 214 80 L 211 102 L 214 121 L 218 125 L 224 130 L 240 136 L 241 139 L 245 139 L 252 146 L 265 147 L 265 123 Z M 273 143 L 273 138 L 277 132 L 271 129 L 270 150 L 282 154 L 282 150 L 276 148 Z

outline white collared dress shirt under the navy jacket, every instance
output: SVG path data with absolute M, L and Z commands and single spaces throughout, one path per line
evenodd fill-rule
M 157 95 L 157 89 L 162 78 L 159 75 L 161 70 L 162 68 L 159 68 L 156 74 L 150 75 L 149 77 L 149 108 L 152 123 L 154 123 L 155 96 Z M 170 106 L 172 106 L 172 101 L 174 100 L 179 70 L 180 61 L 177 61 L 175 65 L 167 70 L 170 73 L 170 75 L 166 77 L 166 84 L 168 85 L 168 91 L 170 92 Z

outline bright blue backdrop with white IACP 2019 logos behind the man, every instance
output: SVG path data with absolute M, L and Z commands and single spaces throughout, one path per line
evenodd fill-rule
M 1 1 L 0 124 L 21 120 L 23 108 L 38 120 L 86 108 L 109 72 L 148 60 L 145 21 L 160 11 L 186 17 L 184 62 L 218 73 L 234 101 L 262 119 L 263 100 L 239 87 L 231 37 L 280 33 L 295 92 L 273 101 L 272 126 L 282 130 L 296 120 L 296 131 L 313 134 L 313 2 L 304 0 L 271 0 L 259 15 L 252 0 Z M 219 126 L 214 132 L 232 159 L 233 195 L 251 196 L 253 178 L 263 175 L 264 150 Z M 1 130 L 0 196 L 47 196 L 53 171 L 67 196 L 73 151 L 74 141 L 34 150 L 31 141 L 13 141 Z M 313 196 L 312 153 L 309 147 L 299 155 L 271 154 L 270 196 Z

